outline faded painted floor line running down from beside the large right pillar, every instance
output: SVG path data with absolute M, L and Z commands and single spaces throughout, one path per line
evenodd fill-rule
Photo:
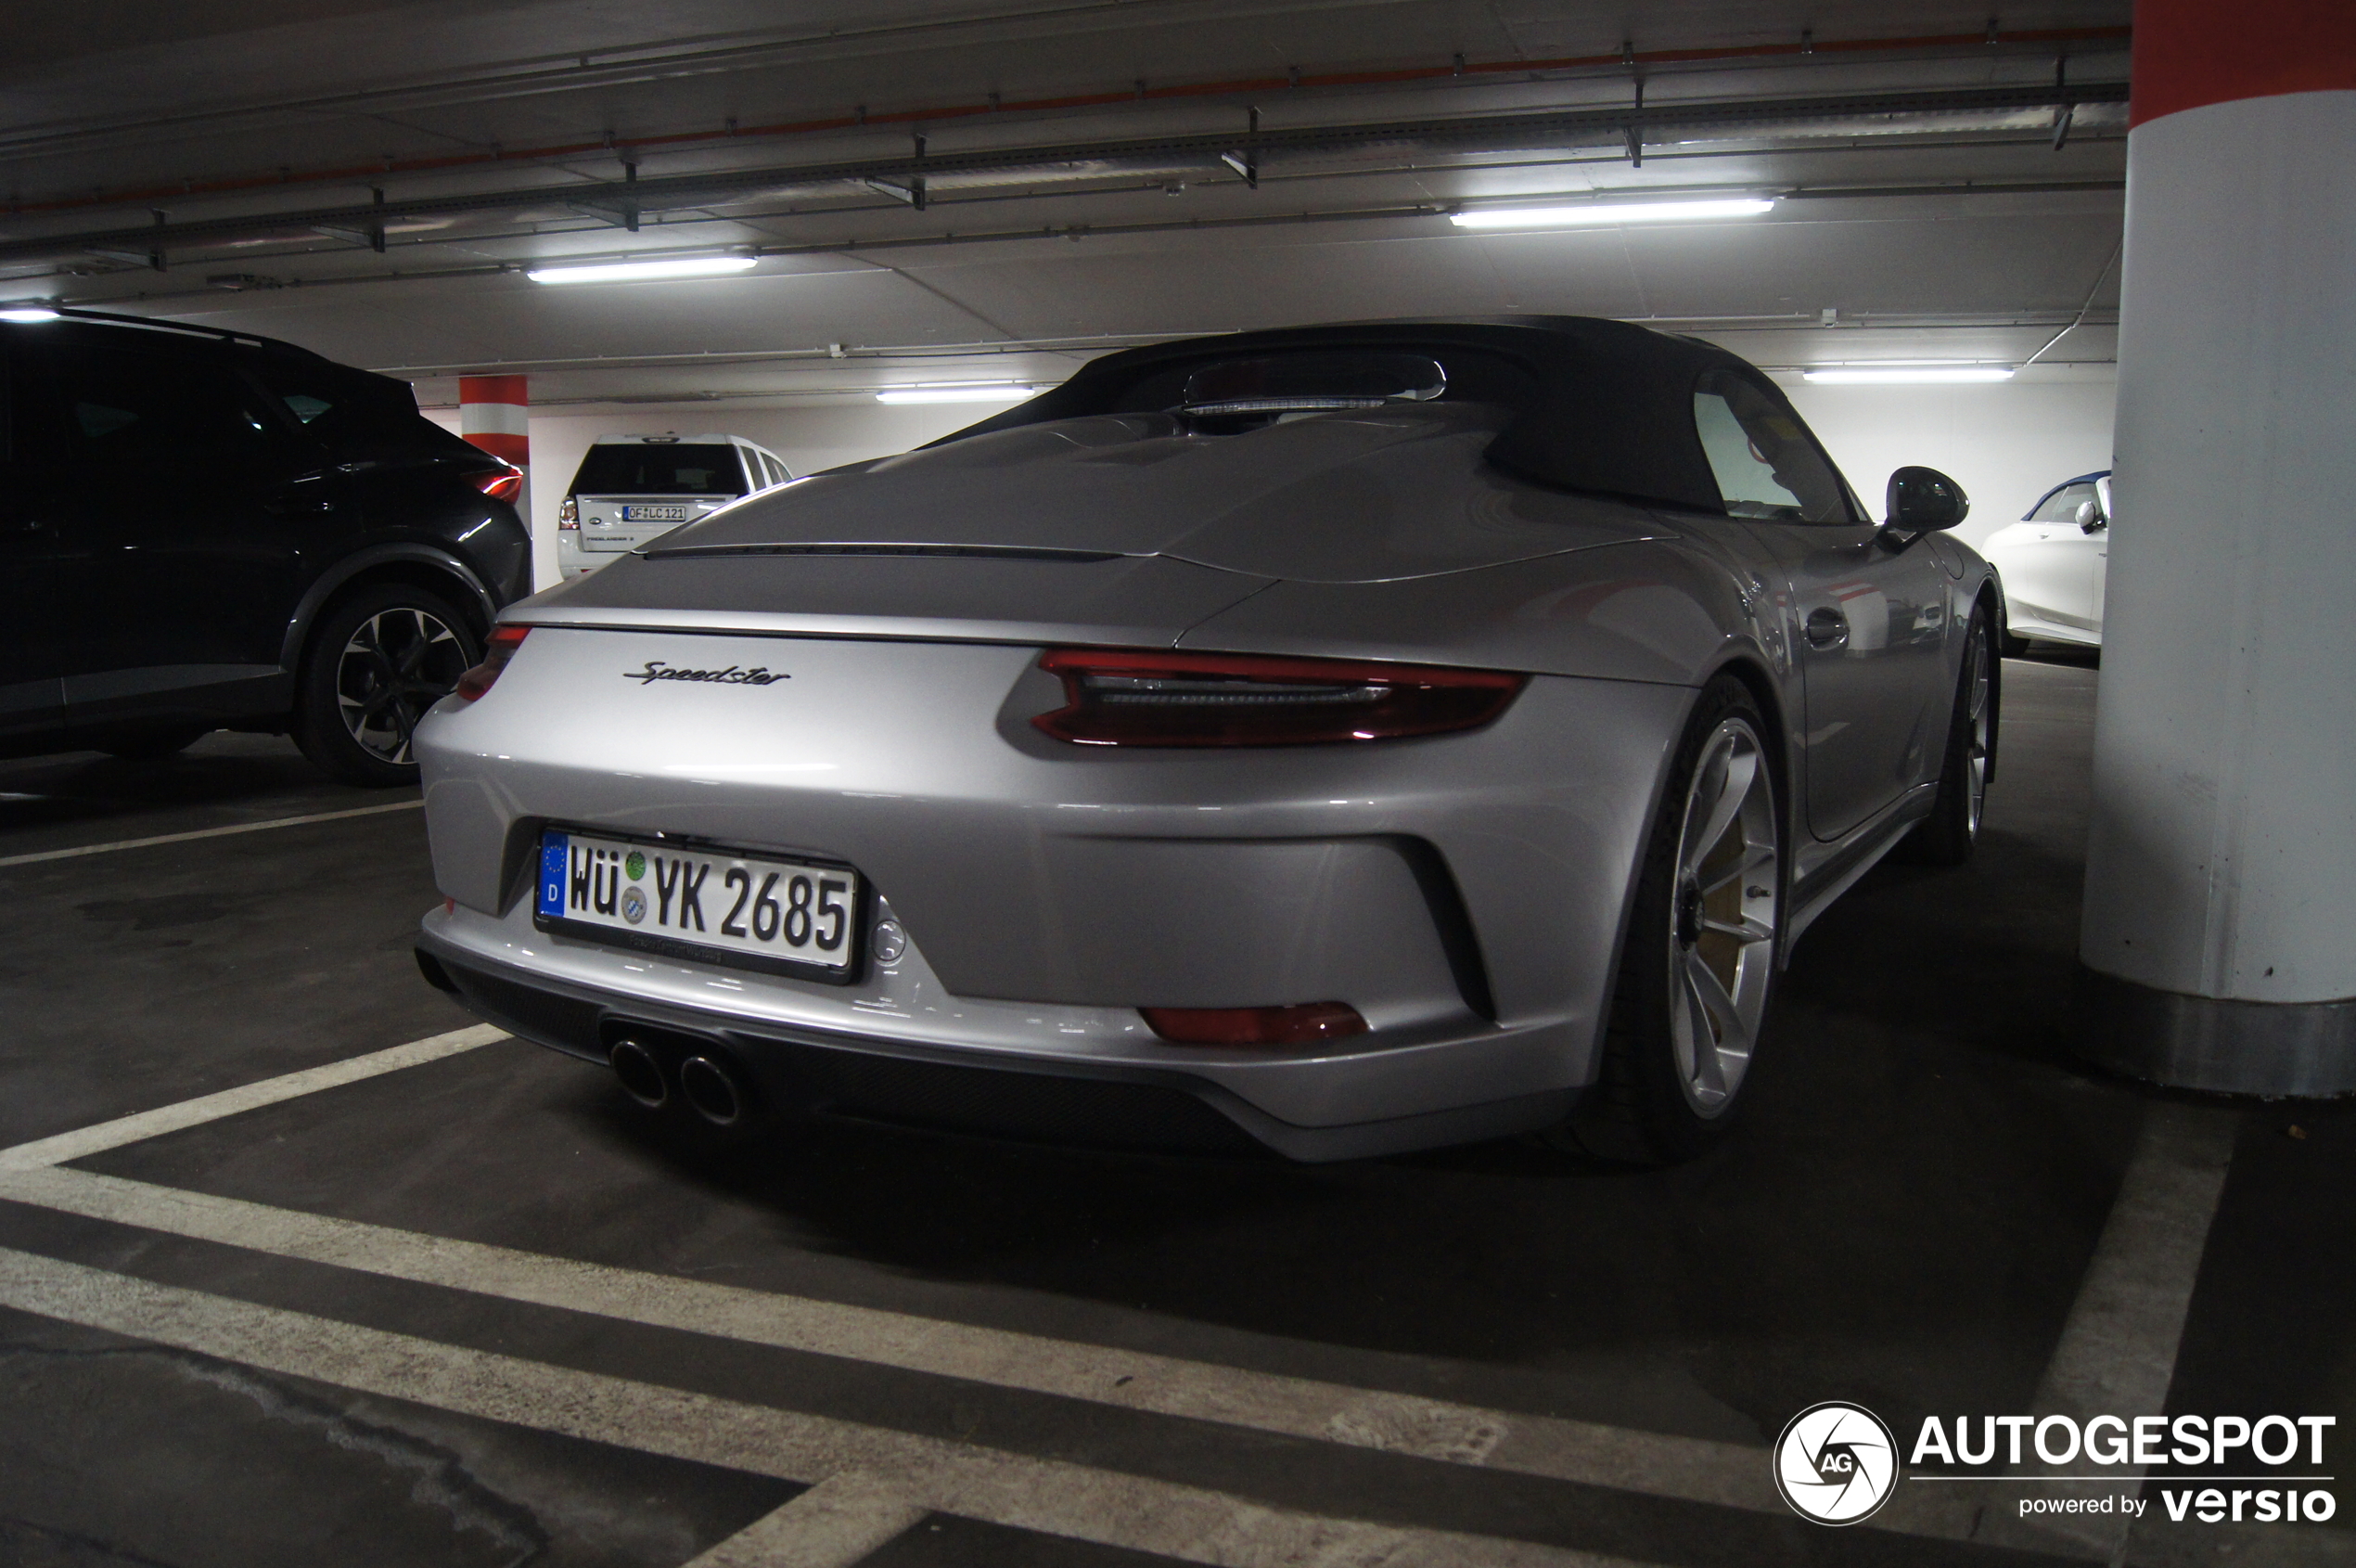
M 2191 1313 L 2201 1254 L 2224 1198 L 2238 1129 L 2241 1115 L 2233 1111 L 2175 1103 L 2146 1108 L 2135 1158 L 2118 1181 L 2118 1198 L 2038 1382 L 2031 1415 L 2085 1422 L 2092 1415 L 2137 1417 L 2168 1408 L 2184 1318 Z M 2045 1476 L 2033 1469 L 2005 1488 L 2005 1500 L 2132 1495 L 2144 1481 L 2139 1464 L 2106 1469 L 2099 1481 L 2057 1478 L 2069 1469 L 2043 1467 Z M 2017 1511 L 1988 1509 L 1979 1537 L 2116 1561 L 2130 1528 L 2132 1521 L 2118 1514 L 2038 1514 L 2036 1521 L 2024 1521 Z

